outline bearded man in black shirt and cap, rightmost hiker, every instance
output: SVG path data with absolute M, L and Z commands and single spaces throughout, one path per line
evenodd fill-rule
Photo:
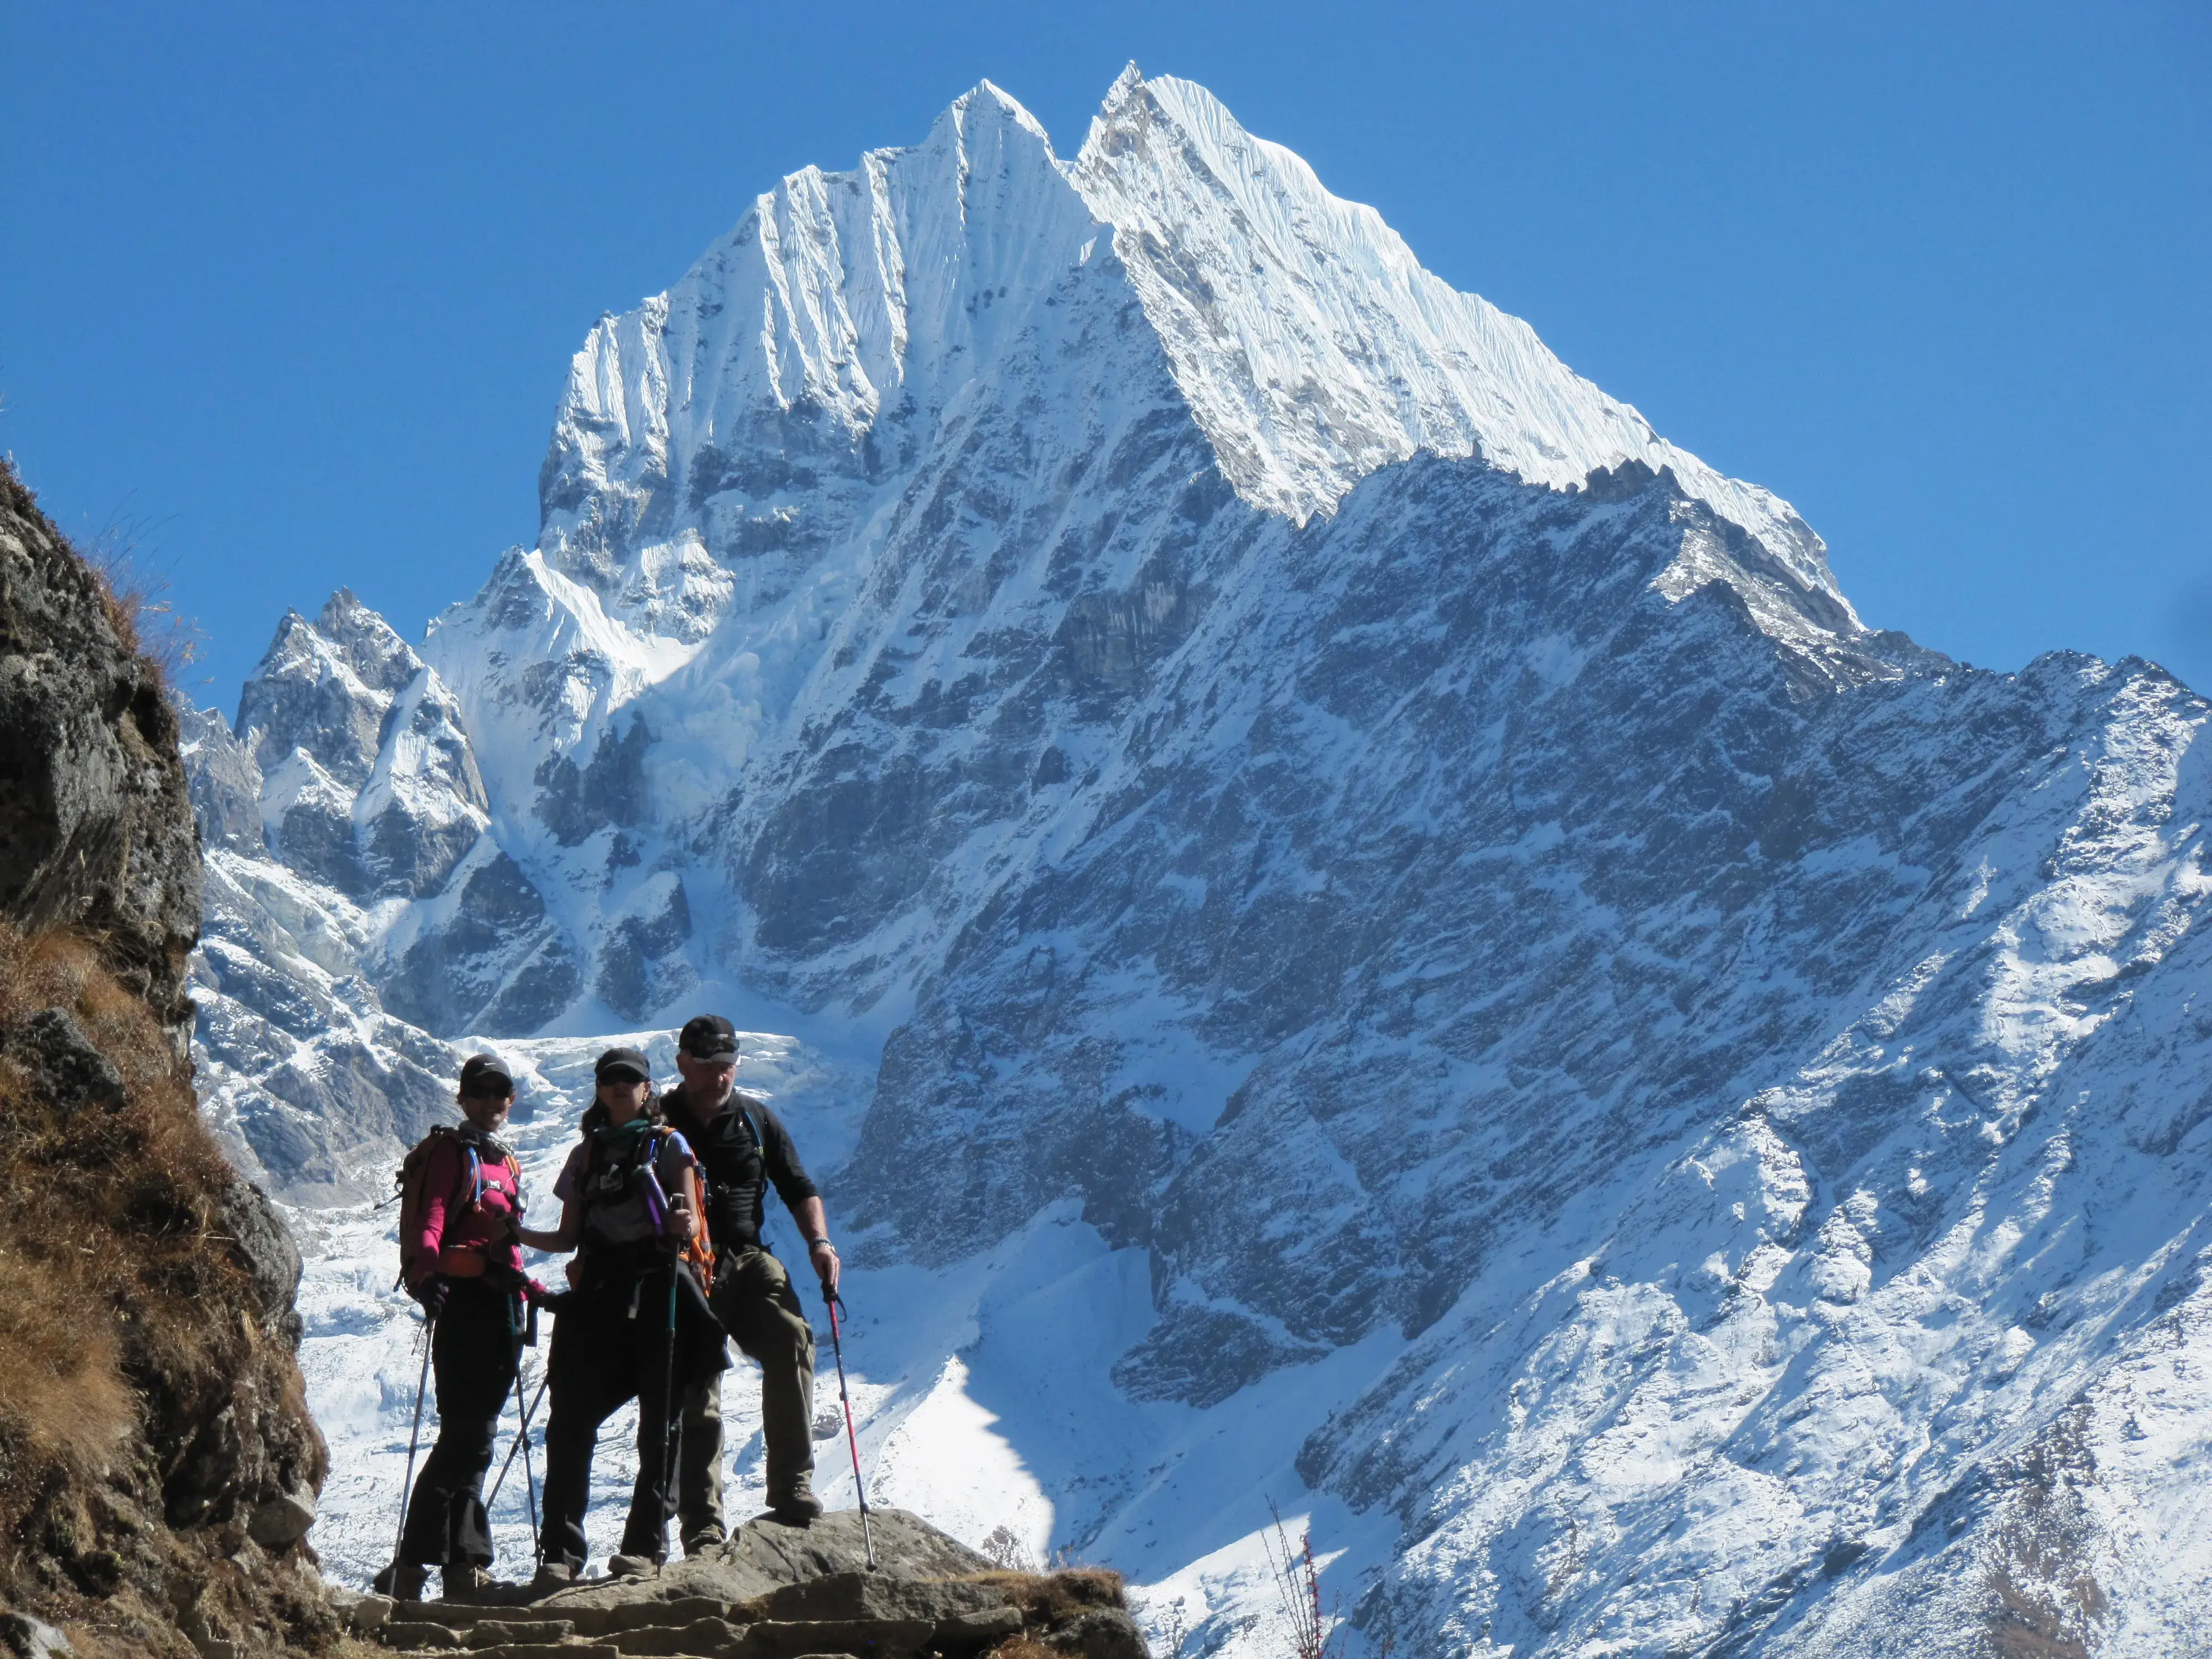
M 768 1506 L 787 1526 L 823 1513 L 814 1498 L 814 1327 L 792 1279 L 761 1245 L 768 1183 L 807 1241 L 814 1276 L 836 1290 L 838 1259 L 821 1194 L 807 1179 L 768 1106 L 737 1093 L 737 1031 L 701 1013 L 677 1037 L 681 1088 L 661 1108 L 699 1157 L 706 1175 L 708 1232 L 714 1241 L 714 1316 L 745 1358 L 761 1365 L 761 1440 L 768 1444 Z M 697 1555 L 728 1537 L 721 1506 L 721 1378 L 684 1391 L 684 1440 L 677 1524 L 684 1553 Z

